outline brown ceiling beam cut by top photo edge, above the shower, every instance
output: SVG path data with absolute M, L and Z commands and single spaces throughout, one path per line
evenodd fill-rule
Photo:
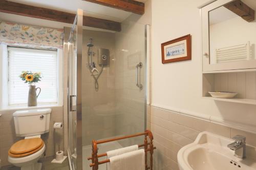
M 135 0 L 83 0 L 83 1 L 100 4 L 107 7 L 124 10 L 127 12 L 133 12 L 140 15 L 144 14 L 145 12 L 144 3 L 141 3 Z

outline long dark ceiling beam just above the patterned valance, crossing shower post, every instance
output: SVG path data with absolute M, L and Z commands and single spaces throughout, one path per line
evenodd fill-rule
M 58 22 L 73 23 L 75 14 L 52 10 L 48 8 L 35 7 L 14 3 L 6 0 L 0 0 L 0 12 L 29 16 L 33 18 L 47 19 Z M 93 28 L 121 31 L 121 23 L 106 19 L 83 16 L 83 25 Z

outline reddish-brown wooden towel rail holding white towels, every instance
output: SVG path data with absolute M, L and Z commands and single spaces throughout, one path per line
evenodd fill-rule
M 88 160 L 92 160 L 90 167 L 92 167 L 93 170 L 98 170 L 100 164 L 110 162 L 110 159 L 105 159 L 103 161 L 98 160 L 99 157 L 106 156 L 106 153 L 98 154 L 97 144 L 121 140 L 121 139 L 127 139 L 127 138 L 132 138 L 132 137 L 137 137 L 137 136 L 144 136 L 144 143 L 139 144 L 138 146 L 139 146 L 139 148 L 144 147 L 144 150 L 145 150 L 145 170 L 147 170 L 147 169 L 153 170 L 153 153 L 154 153 L 154 150 L 156 149 L 156 147 L 154 147 L 154 145 L 153 145 L 153 135 L 150 130 L 146 130 L 143 133 L 123 136 L 123 137 L 117 137 L 117 138 L 113 138 L 113 139 L 93 140 L 92 141 L 92 157 L 88 158 Z M 150 139 L 150 142 L 147 141 L 147 137 Z M 149 145 L 149 147 L 148 147 L 148 145 Z M 148 167 L 148 165 L 147 165 L 147 152 L 148 151 L 150 152 L 150 167 Z

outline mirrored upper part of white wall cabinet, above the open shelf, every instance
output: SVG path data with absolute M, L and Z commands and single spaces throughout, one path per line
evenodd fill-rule
M 202 8 L 203 71 L 256 68 L 255 0 L 218 0 Z

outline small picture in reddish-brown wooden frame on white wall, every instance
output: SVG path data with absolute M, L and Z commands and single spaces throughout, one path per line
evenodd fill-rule
M 190 34 L 161 44 L 162 63 L 191 60 Z

